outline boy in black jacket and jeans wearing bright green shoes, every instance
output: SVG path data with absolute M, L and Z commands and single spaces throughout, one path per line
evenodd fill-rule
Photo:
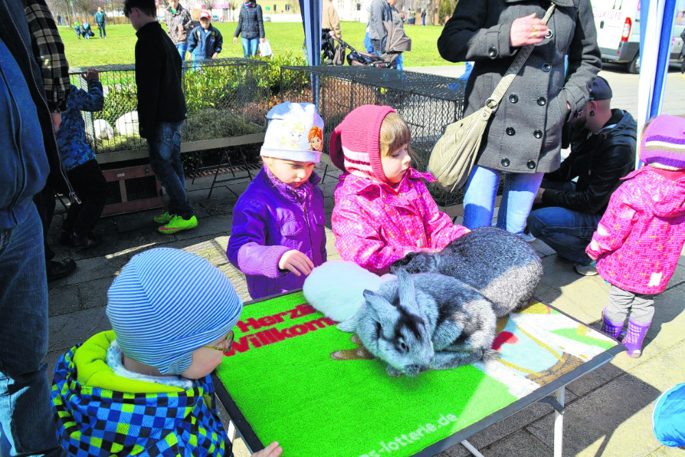
M 153 219 L 163 224 L 158 229 L 163 234 L 192 229 L 197 227 L 197 217 L 186 196 L 181 164 L 181 125 L 188 116 L 182 89 L 183 62 L 157 22 L 155 0 L 126 0 L 124 14 L 138 36 L 138 129 L 147 140 L 152 170 L 169 195 L 169 209 Z

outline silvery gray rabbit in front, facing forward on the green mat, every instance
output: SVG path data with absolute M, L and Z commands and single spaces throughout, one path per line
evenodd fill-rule
M 409 275 L 364 291 L 365 303 L 338 324 L 356 332 L 364 347 L 388 363 L 388 374 L 415 376 L 497 358 L 490 347 L 497 319 L 483 295 L 438 273 Z

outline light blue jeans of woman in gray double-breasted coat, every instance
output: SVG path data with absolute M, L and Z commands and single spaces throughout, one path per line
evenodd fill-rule
M 504 193 L 497 214 L 497 227 L 521 234 L 533 200 L 543 180 L 543 173 L 507 173 Z M 471 230 L 492 225 L 499 171 L 474 166 L 464 194 L 464 227 Z

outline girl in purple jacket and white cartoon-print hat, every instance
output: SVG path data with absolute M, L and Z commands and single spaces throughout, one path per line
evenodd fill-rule
M 286 101 L 266 118 L 264 168 L 240 195 L 226 255 L 253 299 L 300 288 L 326 261 L 321 178 L 323 119 L 312 103 Z

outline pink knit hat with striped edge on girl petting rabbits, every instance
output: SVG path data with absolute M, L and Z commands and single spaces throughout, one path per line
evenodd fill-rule
M 381 124 L 395 112 L 390 106 L 362 105 L 352 110 L 333 130 L 331 160 L 339 169 L 361 177 L 386 181 L 381 164 Z

